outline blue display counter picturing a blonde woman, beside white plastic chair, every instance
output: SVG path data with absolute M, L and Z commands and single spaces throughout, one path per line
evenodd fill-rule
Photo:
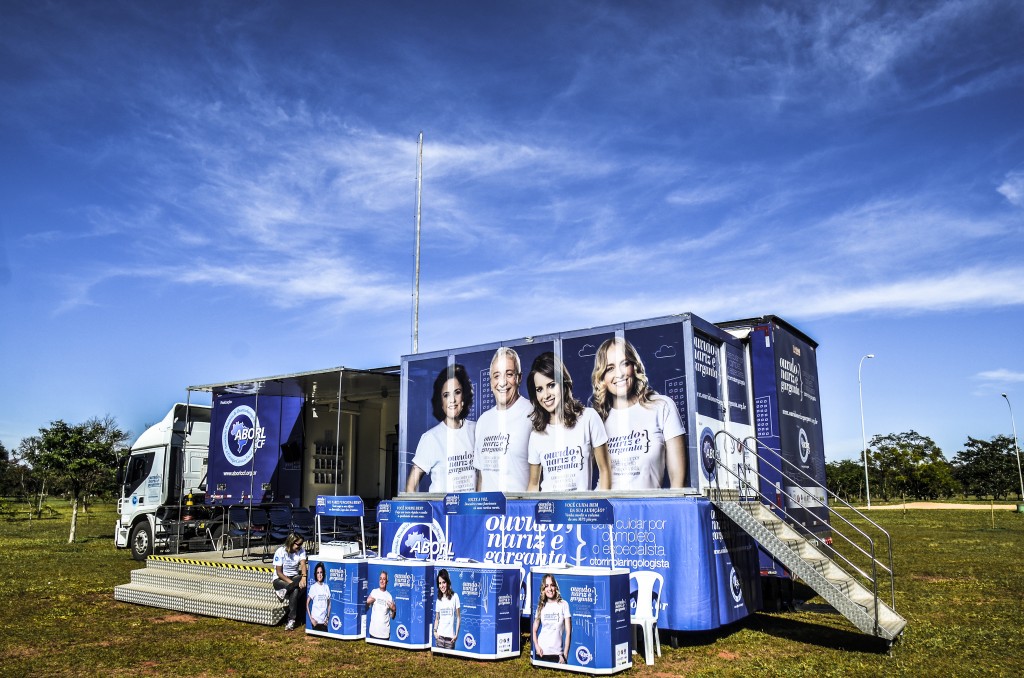
M 565 663 L 538 659 L 538 648 L 530 651 L 530 663 L 546 669 L 606 675 L 633 666 L 630 651 L 630 573 L 624 567 L 534 567 L 530 570 L 532 592 L 530 629 L 538 622 L 538 608 L 544 577 L 555 578 L 559 594 L 568 603 L 571 633 Z

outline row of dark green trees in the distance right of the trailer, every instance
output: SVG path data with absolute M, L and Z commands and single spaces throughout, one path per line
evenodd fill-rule
M 876 435 L 867 446 L 867 479 L 871 499 L 882 501 L 971 496 L 1024 501 L 1017 450 L 1009 435 L 989 440 L 968 436 L 952 461 L 932 438 L 914 430 Z M 848 502 L 863 501 L 863 461 L 825 464 L 825 484 Z

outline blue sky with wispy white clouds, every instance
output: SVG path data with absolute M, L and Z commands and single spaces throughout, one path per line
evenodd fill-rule
M 0 440 L 678 312 L 819 342 L 826 457 L 1024 425 L 1024 5 L 0 8 Z

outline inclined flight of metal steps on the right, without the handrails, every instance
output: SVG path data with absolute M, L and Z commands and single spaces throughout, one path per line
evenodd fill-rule
M 861 632 L 889 641 L 902 633 L 906 620 L 760 503 L 712 502 Z

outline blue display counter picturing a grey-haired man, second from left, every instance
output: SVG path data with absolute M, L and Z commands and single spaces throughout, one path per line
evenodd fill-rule
M 385 612 L 380 605 L 368 604 L 367 599 L 380 588 L 381 573 L 387 573 L 387 591 L 395 604 L 393 618 L 387 624 L 376 624 L 375 618 Z M 430 628 L 434 619 L 434 563 L 425 560 L 392 560 L 374 558 L 367 561 L 366 612 L 367 642 L 391 645 L 403 649 L 427 649 L 430 647 Z M 375 635 L 380 627 L 386 627 L 385 635 Z

